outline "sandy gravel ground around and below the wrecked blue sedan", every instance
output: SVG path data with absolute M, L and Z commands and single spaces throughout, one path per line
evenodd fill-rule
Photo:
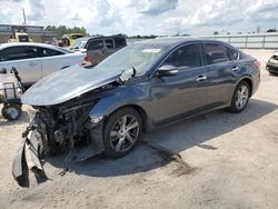
M 271 51 L 249 50 L 266 62 Z M 70 165 L 49 159 L 50 179 L 17 186 L 11 163 L 28 125 L 0 116 L 0 208 L 277 208 L 278 77 L 261 83 L 242 113 L 215 111 L 145 135 L 129 156 Z M 33 178 L 32 178 L 33 179 Z

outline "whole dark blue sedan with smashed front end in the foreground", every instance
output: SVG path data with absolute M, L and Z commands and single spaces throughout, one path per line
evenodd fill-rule
M 92 69 L 52 73 L 22 97 L 37 113 L 23 133 L 28 140 L 13 161 L 13 177 L 26 186 L 29 162 L 22 156 L 33 149 L 32 170 L 43 176 L 38 156 L 86 145 L 75 159 L 121 157 L 153 128 L 216 109 L 241 112 L 259 82 L 259 62 L 251 56 L 228 43 L 186 38 L 137 42 Z

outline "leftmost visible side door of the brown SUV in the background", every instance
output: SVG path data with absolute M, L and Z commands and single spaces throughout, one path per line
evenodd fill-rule
M 97 64 L 106 56 L 103 39 L 89 40 L 86 48 L 87 54 L 92 66 Z

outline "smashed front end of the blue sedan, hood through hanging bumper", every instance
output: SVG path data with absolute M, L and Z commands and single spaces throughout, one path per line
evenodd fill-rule
M 22 133 L 23 141 L 13 160 L 12 175 L 18 183 L 29 187 L 29 170 L 34 172 L 38 182 L 48 179 L 41 163 L 43 157 L 69 151 L 64 173 L 69 161 L 101 153 L 105 150 L 102 125 L 106 116 L 90 116 L 90 111 L 108 90 L 123 84 L 135 74 L 135 69 L 121 73 L 68 69 L 52 73 L 28 89 L 22 103 L 32 106 L 37 112 Z M 64 80 L 66 76 L 71 78 Z

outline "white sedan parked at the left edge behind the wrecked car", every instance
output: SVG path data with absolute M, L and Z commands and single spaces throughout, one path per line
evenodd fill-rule
M 73 53 L 50 44 L 31 42 L 0 44 L 0 69 L 14 67 L 23 86 L 31 86 L 39 79 L 75 63 L 90 64 L 86 53 Z

